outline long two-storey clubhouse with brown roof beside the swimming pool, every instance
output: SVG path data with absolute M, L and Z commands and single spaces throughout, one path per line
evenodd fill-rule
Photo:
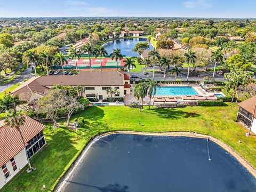
M 130 94 L 130 77 L 121 71 L 79 71 L 79 75 L 52 75 L 38 76 L 29 79 L 12 94 L 18 94 L 22 100 L 33 101 L 38 97 L 45 95 L 54 85 L 83 86 L 84 97 L 98 98 L 104 100 L 108 98 L 107 89 L 116 89 L 118 94 L 116 98 L 123 98 L 124 95 Z

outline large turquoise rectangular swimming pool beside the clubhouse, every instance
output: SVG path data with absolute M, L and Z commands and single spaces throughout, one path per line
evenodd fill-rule
M 197 95 L 191 86 L 160 86 L 156 88 L 156 95 Z

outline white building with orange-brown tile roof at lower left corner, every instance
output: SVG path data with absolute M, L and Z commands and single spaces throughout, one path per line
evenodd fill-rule
M 46 144 L 45 126 L 28 116 L 25 118 L 20 131 L 26 148 L 17 129 L 0 121 L 0 189 L 28 164 L 26 153 L 30 158 Z

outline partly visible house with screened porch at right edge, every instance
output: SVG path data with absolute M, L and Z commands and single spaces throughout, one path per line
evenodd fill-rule
M 251 131 L 256 134 L 256 96 L 247 99 L 238 105 L 238 121 L 243 123 L 247 128 L 251 128 Z

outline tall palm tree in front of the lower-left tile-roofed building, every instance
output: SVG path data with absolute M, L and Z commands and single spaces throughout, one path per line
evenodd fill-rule
M 12 128 L 14 127 L 15 129 L 17 129 L 17 131 L 20 133 L 20 137 L 22 139 L 24 148 L 26 149 L 26 143 L 20 131 L 20 127 L 25 123 L 25 121 L 26 121 L 26 118 L 25 116 L 22 115 L 21 111 L 12 110 L 6 115 L 4 123 L 6 126 L 11 126 Z M 26 157 L 27 157 L 29 169 L 31 169 L 32 167 L 29 162 L 27 151 L 26 151 Z

